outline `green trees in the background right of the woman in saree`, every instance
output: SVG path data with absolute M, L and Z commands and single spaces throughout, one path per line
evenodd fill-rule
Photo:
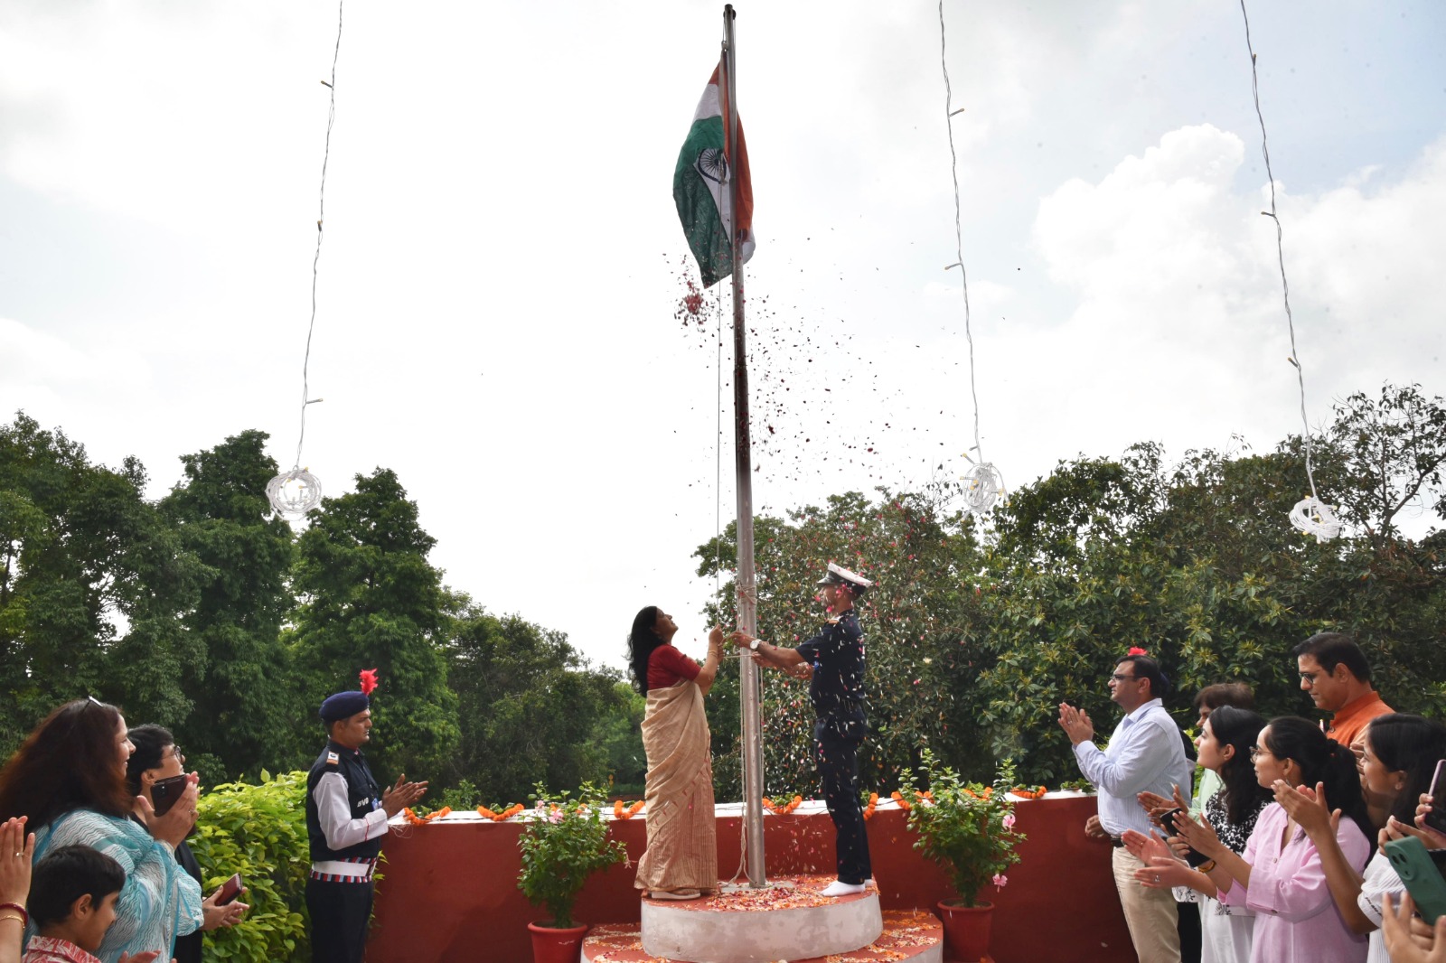
M 1336 406 L 1314 441 L 1316 480 L 1348 532 L 1325 544 L 1287 522 L 1306 484 L 1300 438 L 1268 454 L 1190 451 L 1174 466 L 1157 444 L 1061 461 L 988 525 L 953 510 L 957 492 L 943 487 L 761 516 L 759 632 L 779 645 L 817 632 L 813 583 L 827 561 L 875 580 L 859 606 L 873 727 L 860 775 L 884 791 L 925 746 L 983 781 L 1005 756 L 1030 782 L 1076 779 L 1058 703 L 1082 704 L 1108 735 L 1118 713 L 1105 680 L 1131 646 L 1161 661 L 1183 726 L 1199 688 L 1232 680 L 1251 682 L 1267 714 L 1314 714 L 1290 649 L 1325 629 L 1356 638 L 1395 709 L 1440 716 L 1443 419 L 1442 399 L 1416 386 Z M 1426 516 L 1417 538 L 1401 531 L 1407 513 Z M 735 544 L 730 528 L 700 545 L 700 574 L 732 565 Z M 733 591 L 727 581 L 714 602 L 724 623 Z M 740 791 L 735 680 L 709 700 L 722 798 Z M 766 789 L 811 791 L 804 684 L 765 672 L 763 713 Z

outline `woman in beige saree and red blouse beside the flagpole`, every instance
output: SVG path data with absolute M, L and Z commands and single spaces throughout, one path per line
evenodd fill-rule
M 723 629 L 709 633 L 709 658 L 698 665 L 672 646 L 672 616 L 648 606 L 628 635 L 633 685 L 648 697 L 642 745 L 648 852 L 635 886 L 652 899 L 696 899 L 719 885 L 713 829 L 713 761 L 703 697 L 713 687 Z

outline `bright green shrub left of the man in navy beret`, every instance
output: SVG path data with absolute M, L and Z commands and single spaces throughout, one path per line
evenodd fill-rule
M 260 785 L 230 782 L 201 797 L 189 844 L 201 863 L 202 892 L 210 895 L 240 873 L 241 899 L 250 905 L 240 924 L 205 936 L 208 960 L 311 960 L 305 797 L 305 772 L 273 779 L 265 771 Z

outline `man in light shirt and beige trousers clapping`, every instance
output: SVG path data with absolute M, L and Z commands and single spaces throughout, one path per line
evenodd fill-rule
M 1099 816 L 1090 818 L 1086 831 L 1103 833 L 1115 846 L 1115 889 L 1139 963 L 1180 963 L 1174 894 L 1141 886 L 1135 870 L 1144 863 L 1121 843 L 1128 829 L 1150 834 L 1150 816 L 1135 800 L 1139 792 L 1170 798 L 1178 785 L 1190 798 L 1193 766 L 1184 755 L 1180 727 L 1160 700 L 1165 684 L 1160 664 L 1144 649 L 1131 649 L 1121 659 L 1109 677 L 1109 697 L 1125 710 L 1125 717 L 1109 737 L 1108 750 L 1093 743 L 1095 724 L 1089 716 L 1060 703 L 1060 727 L 1074 746 L 1074 761 L 1099 792 Z

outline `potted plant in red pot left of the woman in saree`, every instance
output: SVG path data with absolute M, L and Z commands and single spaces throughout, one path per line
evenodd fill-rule
M 536 807 L 523 813 L 526 829 L 518 839 L 522 872 L 518 889 L 535 907 L 545 907 L 548 918 L 529 923 L 535 963 L 576 963 L 587 925 L 576 925 L 573 904 L 587 878 L 628 859 L 617 840 L 607 839 L 603 823 L 606 800 L 590 782 L 574 797 L 548 794 L 536 785 Z

